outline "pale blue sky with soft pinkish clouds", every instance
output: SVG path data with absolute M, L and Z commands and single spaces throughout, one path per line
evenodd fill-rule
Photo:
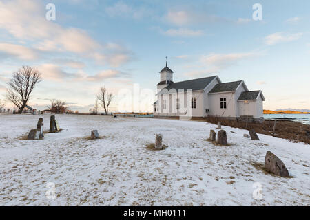
M 167 56 L 174 82 L 244 80 L 262 90 L 264 109 L 310 109 L 309 10 L 307 0 L 0 0 L 0 99 L 29 65 L 42 74 L 37 109 L 60 99 L 87 112 L 104 86 L 111 111 L 152 111 Z

